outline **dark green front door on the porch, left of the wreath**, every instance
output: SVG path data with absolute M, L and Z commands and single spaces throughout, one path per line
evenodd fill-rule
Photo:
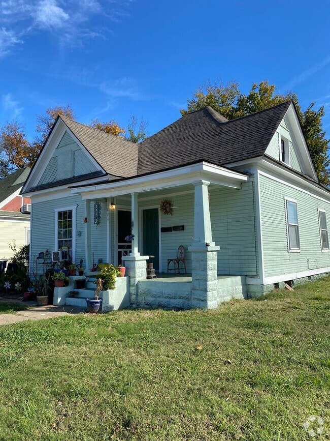
M 153 267 L 159 271 L 159 224 L 158 209 L 143 210 L 143 254 L 155 256 L 150 260 Z

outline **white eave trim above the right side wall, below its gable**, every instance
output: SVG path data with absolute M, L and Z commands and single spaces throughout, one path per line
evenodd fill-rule
M 318 187 L 317 183 L 306 181 L 300 176 L 291 173 L 289 170 L 274 164 L 271 160 L 264 158 L 258 167 L 259 174 L 264 175 L 274 181 L 292 187 L 296 190 L 310 194 L 313 197 L 330 202 L 330 192 Z

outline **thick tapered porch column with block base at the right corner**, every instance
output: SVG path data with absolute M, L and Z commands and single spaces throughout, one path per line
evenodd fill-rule
M 212 240 L 208 181 L 194 182 L 194 237 L 191 246 L 191 306 L 215 308 L 217 302 L 217 251 Z

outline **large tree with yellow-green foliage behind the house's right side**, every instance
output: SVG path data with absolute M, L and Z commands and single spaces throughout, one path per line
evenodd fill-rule
M 185 115 L 194 110 L 211 106 L 228 120 L 232 120 L 289 100 L 295 104 L 318 179 L 322 184 L 329 185 L 328 166 L 330 161 L 327 155 L 329 140 L 325 139 L 325 132 L 322 130 L 324 107 L 316 110 L 313 108 L 315 103 L 311 103 L 303 111 L 298 97 L 293 92 L 277 94 L 276 86 L 270 84 L 269 81 L 261 81 L 259 84 L 253 83 L 251 90 L 245 95 L 240 92 L 237 82 L 229 82 L 224 85 L 220 80 L 217 80 L 215 83 L 209 81 L 198 87 L 192 98 L 188 100 L 187 109 L 181 109 L 180 112 Z

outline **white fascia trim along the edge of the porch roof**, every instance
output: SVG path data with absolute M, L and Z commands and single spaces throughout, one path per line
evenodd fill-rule
M 249 177 L 237 171 L 200 162 L 119 182 L 110 181 L 109 183 L 95 186 L 81 186 L 76 189 L 73 188 L 71 191 L 74 194 L 81 193 L 83 194 L 83 199 L 88 199 L 91 197 L 106 197 L 109 196 L 109 193 L 111 193 L 111 196 L 119 196 L 127 193 L 177 187 L 179 185 L 191 184 L 193 180 L 199 179 L 208 180 L 212 184 L 241 188 L 241 183 L 248 181 Z M 89 195 L 89 193 L 93 194 Z

